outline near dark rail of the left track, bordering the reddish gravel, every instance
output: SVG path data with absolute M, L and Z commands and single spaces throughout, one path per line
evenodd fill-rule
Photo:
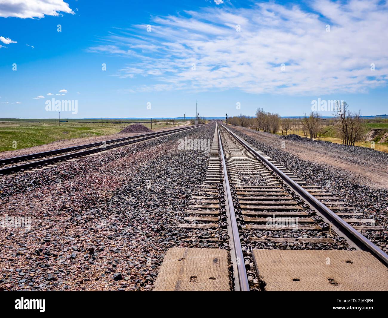
M 34 162 L 28 162 L 28 163 L 24 163 L 24 164 L 20 164 L 20 165 L 14 165 L 11 167 L 2 168 L 2 169 L 0 169 L 0 175 L 6 175 L 6 174 L 13 173 L 13 172 L 21 171 L 21 170 L 24 171 L 24 170 L 29 169 L 29 168 L 40 167 L 42 165 L 51 164 L 51 163 L 59 162 L 62 160 L 67 160 L 67 159 L 78 157 L 78 156 L 84 156 L 84 155 L 88 155 L 90 153 L 95 153 L 98 151 L 104 151 L 104 150 L 113 149 L 113 148 L 117 148 L 117 147 L 121 147 L 121 146 L 126 146 L 128 144 L 133 144 L 135 142 L 140 142 L 140 141 L 144 141 L 147 139 L 153 139 L 153 138 L 157 138 L 157 137 L 161 137 L 161 136 L 165 136 L 165 135 L 175 134 L 177 132 L 182 132 L 182 131 L 194 129 L 197 127 L 201 127 L 201 126 L 186 127 L 184 129 L 178 129 L 178 130 L 174 129 L 174 130 L 168 130 L 165 132 L 157 132 L 157 133 L 153 133 L 153 134 L 131 136 L 129 138 L 133 139 L 133 140 L 123 141 L 123 142 L 119 142 L 116 144 L 104 145 L 104 146 L 101 146 L 99 148 L 86 149 L 84 151 L 78 151 L 76 153 L 68 153 L 68 154 L 62 155 L 62 156 L 55 156 L 54 158 L 47 158 L 47 159 L 42 159 L 42 160 L 38 160 L 38 161 L 34 161 Z M 127 138 L 124 138 L 124 139 L 127 139 Z M 118 139 L 116 139 L 116 141 L 117 140 Z M 97 142 L 97 144 L 102 144 L 102 142 Z M 85 145 L 85 146 L 87 146 L 87 145 Z M 79 146 L 79 147 L 81 147 L 81 146 Z M 91 147 L 92 146 L 84 147 L 84 148 L 91 148 Z M 73 148 L 73 147 L 71 147 L 71 148 Z M 64 148 L 64 149 L 67 149 L 67 148 Z M 48 151 L 48 152 L 52 153 L 54 151 Z M 15 158 L 18 158 L 18 157 L 15 157 Z

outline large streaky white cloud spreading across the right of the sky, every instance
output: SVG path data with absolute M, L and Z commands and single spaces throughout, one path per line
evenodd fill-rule
M 308 3 L 310 10 L 260 2 L 153 17 L 151 32 L 134 25 L 89 50 L 127 57 L 130 66 L 116 76 L 148 76 L 149 85 L 132 88 L 138 91 L 331 94 L 385 86 L 388 42 L 381 35 L 388 29 L 388 5 L 379 0 Z

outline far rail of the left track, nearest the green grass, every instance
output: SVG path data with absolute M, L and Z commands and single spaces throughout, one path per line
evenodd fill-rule
M 182 131 L 182 130 L 187 130 L 187 129 L 191 129 L 191 128 L 194 128 L 194 127 L 176 128 L 176 129 L 171 129 L 171 130 L 164 131 L 164 132 Z M 152 132 L 152 133 L 141 134 L 141 135 L 137 135 L 137 136 L 130 136 L 130 137 L 123 137 L 123 138 L 118 138 L 118 139 L 111 139 L 111 140 L 107 140 L 105 142 L 106 142 L 106 144 L 111 144 L 113 142 L 120 142 L 120 141 L 125 141 L 125 140 L 145 137 L 145 136 L 155 136 L 155 135 L 161 134 L 161 133 L 163 133 L 163 132 Z M 73 147 L 68 147 L 68 148 L 54 149 L 54 150 L 43 151 L 43 152 L 38 152 L 38 153 L 31 153 L 29 155 L 23 155 L 23 156 L 17 156 L 17 157 L 12 157 L 12 158 L 0 159 L 0 165 L 9 165 L 10 163 L 17 163 L 17 162 L 21 162 L 21 161 L 36 159 L 36 158 L 40 158 L 42 156 L 53 156 L 53 155 L 57 155 L 58 153 L 64 153 L 64 152 L 69 152 L 69 151 L 74 151 L 74 150 L 84 149 L 84 148 L 91 148 L 91 147 L 99 146 L 103 142 L 104 141 L 93 142 L 91 144 L 83 144 L 83 145 L 80 145 L 80 146 L 73 146 Z

